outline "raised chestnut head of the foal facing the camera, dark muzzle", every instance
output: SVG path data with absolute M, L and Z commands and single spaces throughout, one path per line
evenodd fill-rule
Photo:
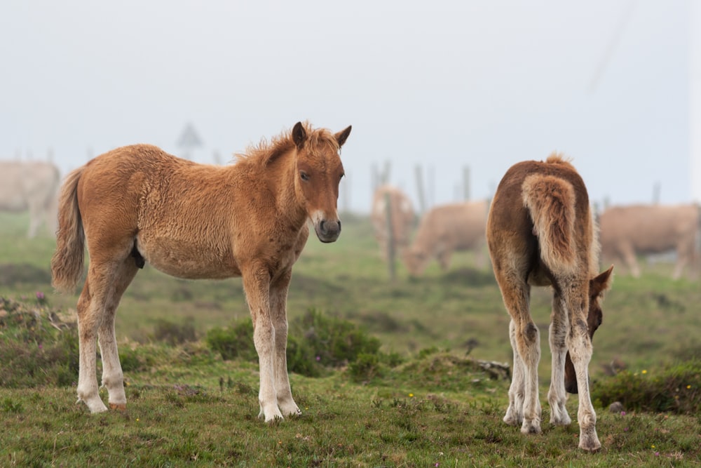
M 350 133 L 351 126 L 335 134 L 311 131 L 301 122 L 292 128 L 297 147 L 295 192 L 322 242 L 334 242 L 341 234 L 337 202 L 343 164 L 339 149 Z

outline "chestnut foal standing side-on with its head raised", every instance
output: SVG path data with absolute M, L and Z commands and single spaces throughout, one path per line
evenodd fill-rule
M 339 150 L 350 133 L 350 126 L 331 133 L 300 122 L 223 167 L 134 145 L 70 173 L 51 267 L 54 286 L 72 290 L 87 243 L 90 269 L 78 302 L 79 401 L 93 413 L 107 410 L 97 392 L 97 338 L 109 404 L 126 406 L 114 316 L 148 262 L 180 278 L 242 276 L 260 364 L 259 416 L 299 414 L 287 377 L 287 288 L 308 237 L 306 221 L 322 242 L 341 234 Z

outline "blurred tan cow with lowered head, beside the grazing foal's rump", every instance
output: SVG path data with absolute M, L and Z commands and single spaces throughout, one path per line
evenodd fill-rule
M 453 252 L 473 250 L 482 267 L 486 255 L 485 229 L 489 212 L 487 201 L 468 201 L 436 206 L 421 219 L 416 239 L 404 254 L 404 263 L 412 276 L 423 273 L 428 262 L 437 258 L 443 271 L 448 269 Z

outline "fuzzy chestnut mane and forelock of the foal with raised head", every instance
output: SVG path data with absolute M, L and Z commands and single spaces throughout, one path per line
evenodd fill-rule
M 305 121 L 302 123 L 306 131 L 306 141 L 304 147 L 312 154 L 318 152 L 318 148 L 328 146 L 335 152 L 339 151 L 339 143 L 333 133 L 326 128 L 313 129 L 311 123 Z M 265 168 L 269 163 L 278 159 L 286 152 L 294 149 L 294 139 L 292 138 L 292 130 L 283 131 L 280 135 L 276 135 L 270 140 L 262 138 L 257 145 L 249 145 L 245 153 L 235 154 L 236 162 L 244 161 Z

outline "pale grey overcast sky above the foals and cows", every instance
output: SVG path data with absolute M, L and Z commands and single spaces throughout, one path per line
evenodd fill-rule
M 517 161 L 571 156 L 590 198 L 691 199 L 690 0 L 3 0 L 0 158 L 67 171 L 147 142 L 230 161 L 295 122 L 353 132 L 345 199 L 373 165 L 414 199 L 491 196 Z M 342 195 L 343 197 L 343 195 Z

